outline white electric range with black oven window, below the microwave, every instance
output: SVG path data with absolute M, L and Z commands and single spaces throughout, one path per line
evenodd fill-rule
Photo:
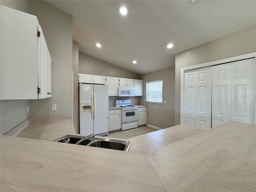
M 138 107 L 130 99 L 116 100 L 116 107 L 122 107 L 122 131 L 138 127 Z

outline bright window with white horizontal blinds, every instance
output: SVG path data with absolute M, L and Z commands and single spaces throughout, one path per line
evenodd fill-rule
M 146 102 L 162 104 L 163 81 L 146 82 Z

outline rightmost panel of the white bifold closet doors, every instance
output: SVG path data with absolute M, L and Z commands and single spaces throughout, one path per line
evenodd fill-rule
M 253 124 L 255 58 L 231 63 L 231 120 Z

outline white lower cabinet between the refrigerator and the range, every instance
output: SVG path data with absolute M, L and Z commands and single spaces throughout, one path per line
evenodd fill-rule
M 122 126 L 121 122 L 121 110 L 109 110 L 109 132 L 114 130 L 120 130 Z

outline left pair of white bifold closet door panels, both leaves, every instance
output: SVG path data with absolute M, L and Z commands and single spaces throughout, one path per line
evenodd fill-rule
M 203 130 L 211 128 L 211 90 L 211 67 L 185 73 L 185 125 Z

